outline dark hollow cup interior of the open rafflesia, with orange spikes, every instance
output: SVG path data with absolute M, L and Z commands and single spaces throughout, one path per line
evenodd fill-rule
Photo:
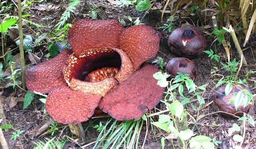
M 96 48 L 81 52 L 79 57 L 70 55 L 64 69 L 65 80 L 76 78 L 87 82 L 97 82 L 114 77 L 121 68 L 121 57 L 110 48 Z

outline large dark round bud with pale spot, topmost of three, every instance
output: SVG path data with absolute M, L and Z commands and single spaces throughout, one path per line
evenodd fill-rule
M 206 48 L 206 40 L 197 29 L 181 27 L 170 34 L 168 46 L 179 57 L 197 58 Z

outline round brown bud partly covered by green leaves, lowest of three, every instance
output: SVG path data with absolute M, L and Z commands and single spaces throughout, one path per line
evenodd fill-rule
M 226 88 L 226 85 L 221 86 L 213 96 L 213 103 L 214 103 L 215 109 L 217 111 L 227 112 L 236 116 L 243 116 L 244 112 L 245 113 L 249 112 L 253 104 L 250 103 L 244 107 L 244 101 L 247 102 L 248 95 L 246 95 L 245 93 L 242 93 L 243 95 L 239 99 L 240 101 L 242 101 L 242 103 L 240 106 L 238 106 L 237 110 L 235 108 L 234 100 L 238 92 L 241 92 L 244 89 L 247 90 L 247 92 L 250 92 L 250 89 L 248 89 L 247 87 L 241 84 L 233 85 L 233 89 L 226 96 L 225 88 Z M 221 112 L 220 114 L 223 115 L 224 117 L 233 117 L 233 115 L 229 115 L 227 113 Z

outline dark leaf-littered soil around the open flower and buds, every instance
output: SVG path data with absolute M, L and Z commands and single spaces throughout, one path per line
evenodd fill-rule
M 15 0 L 14 0 L 15 1 Z M 67 7 L 67 4 L 63 4 L 60 1 L 56 0 L 55 2 L 49 2 L 51 3 L 56 9 L 50 9 L 44 11 L 39 11 L 38 9 L 35 9 L 36 6 L 34 5 L 35 3 L 32 4 L 32 8 L 27 9 L 26 12 L 23 12 L 23 14 L 32 14 L 31 17 L 26 18 L 27 20 L 31 20 L 34 23 L 38 23 L 38 24 L 42 24 L 42 25 L 48 25 L 50 26 L 50 28 L 47 27 L 42 27 L 40 29 L 36 28 L 35 26 L 30 26 L 30 28 L 28 28 L 28 26 L 26 26 L 25 24 L 23 25 L 23 32 L 24 34 L 29 34 L 31 35 L 33 38 L 38 37 L 35 33 L 39 32 L 41 33 L 52 33 L 53 32 L 53 27 L 58 23 L 59 18 L 61 17 L 61 14 L 64 12 L 65 7 Z M 44 3 L 42 3 L 43 5 L 45 5 Z M 87 3 L 85 3 L 84 1 L 81 2 L 80 6 L 78 9 L 76 9 L 75 14 L 73 14 L 73 16 L 71 17 L 72 19 L 69 19 L 67 23 L 73 23 L 73 21 L 78 20 L 80 18 L 89 18 L 87 14 L 89 14 L 89 11 L 94 10 L 94 11 L 98 11 L 98 19 L 102 19 L 102 20 L 107 20 L 107 19 L 118 19 L 123 18 L 125 20 L 127 19 L 127 16 L 130 15 L 132 18 L 137 18 L 140 17 L 142 18 L 145 14 L 145 11 L 139 12 L 136 11 L 135 6 L 128 6 L 125 8 L 119 8 L 119 7 L 114 7 L 112 4 L 110 4 L 108 1 L 106 0 L 87 0 Z M 13 8 L 12 11 L 10 11 L 12 13 L 12 15 L 17 16 L 17 9 Z M 166 21 L 166 18 L 169 17 L 170 14 L 164 14 L 163 16 L 163 21 Z M 48 18 L 48 19 L 45 19 Z M 195 19 L 195 20 L 193 20 Z M 192 20 L 195 22 L 198 21 L 198 19 L 196 17 L 193 17 Z M 175 28 L 178 28 L 180 26 L 182 26 L 182 24 L 185 24 L 186 22 L 189 22 L 192 24 L 190 19 L 186 19 L 186 18 L 179 18 L 176 22 L 175 22 Z M 146 25 L 152 26 L 153 28 L 158 28 L 160 26 L 163 26 L 163 23 L 161 23 L 161 13 L 159 10 L 153 10 L 153 11 L 149 11 L 149 14 L 145 15 L 145 17 L 143 18 L 143 23 L 145 23 Z M 207 23 L 208 24 L 208 23 Z M 204 30 L 207 31 L 207 30 Z M 210 28 L 208 30 L 208 32 L 212 32 L 212 29 Z M 174 54 L 172 54 L 169 51 L 169 48 L 167 46 L 167 39 L 169 36 L 169 32 L 168 31 L 164 31 L 162 32 L 164 35 L 164 40 L 161 43 L 160 46 L 160 52 L 157 53 L 157 56 L 155 58 L 152 59 L 152 61 L 154 61 L 154 59 L 157 59 L 157 57 L 162 57 L 165 61 L 165 63 L 167 63 L 170 59 L 172 59 L 173 57 L 176 57 Z M 222 48 L 222 46 L 217 46 L 217 42 L 215 41 L 215 43 L 213 43 L 214 40 L 214 36 L 209 36 L 207 34 L 205 34 L 205 37 L 207 39 L 207 49 L 215 49 L 215 51 L 217 51 L 217 54 L 220 56 L 220 60 L 222 62 L 226 62 L 227 61 L 227 56 L 225 53 L 225 50 Z M 15 47 L 15 43 L 12 42 L 9 38 L 8 38 L 9 42 L 7 44 L 7 46 L 9 47 Z M 232 59 L 236 57 L 236 59 L 239 59 L 236 55 L 236 51 L 234 48 L 233 43 L 231 42 L 231 55 L 232 55 Z M 45 46 L 44 44 L 41 46 L 35 46 L 34 47 L 34 51 L 33 53 L 37 54 L 38 57 L 41 57 L 41 52 L 46 53 L 46 49 L 47 46 Z M 15 51 L 16 54 L 18 53 L 18 51 Z M 15 54 L 15 52 L 13 52 Z M 239 73 L 239 77 L 240 78 L 244 78 L 244 75 L 246 74 L 247 71 L 252 70 L 252 71 L 256 71 L 256 48 L 255 46 L 250 46 L 250 48 L 248 48 L 247 50 L 244 51 L 244 55 L 246 57 L 248 66 L 243 66 L 240 73 Z M 27 64 L 30 63 L 29 59 L 28 59 L 28 54 L 26 53 L 26 61 Z M 44 59 L 44 58 L 43 58 Z M 198 76 L 195 80 L 195 83 L 198 86 L 201 86 L 203 84 L 209 83 L 207 86 L 207 92 L 204 93 L 204 97 L 205 97 L 205 106 L 200 110 L 199 115 L 207 115 L 209 113 L 215 112 L 214 108 L 213 108 L 213 104 L 212 104 L 212 95 L 215 91 L 215 85 L 217 80 L 219 80 L 221 77 L 217 77 L 217 76 L 213 76 L 211 74 L 213 66 L 212 66 L 212 60 L 210 60 L 210 58 L 208 57 L 207 54 L 202 54 L 200 58 L 198 59 L 194 59 L 192 60 L 197 69 L 198 69 Z M 219 64 L 219 63 L 218 63 Z M 219 68 L 221 68 L 221 66 L 218 66 Z M 221 70 L 218 72 L 219 74 L 222 75 L 227 75 L 228 72 L 225 70 Z M 252 74 L 249 76 L 249 78 L 247 79 L 247 85 L 250 89 L 252 89 L 252 92 L 255 93 L 256 92 L 256 85 L 255 85 L 255 81 L 256 81 L 256 74 Z M 3 85 L 4 83 L 0 83 L 0 85 Z M 44 115 L 44 112 L 41 111 L 42 110 L 42 104 L 40 103 L 40 101 L 38 100 L 38 98 L 41 97 L 36 97 L 37 100 L 35 102 L 33 102 L 33 104 L 31 106 L 29 106 L 28 108 L 26 108 L 25 110 L 22 110 L 23 108 L 23 102 L 20 102 L 18 99 L 18 97 L 24 97 L 24 93 L 16 88 L 15 90 L 13 90 L 11 87 L 10 88 L 4 88 L 3 86 L 1 86 L 0 89 L 0 95 L 2 95 L 2 97 L 0 98 L 2 101 L 4 99 L 4 97 L 15 97 L 15 101 L 17 101 L 17 104 L 15 106 L 13 106 L 12 108 L 9 108 L 9 104 L 8 102 L 3 102 L 4 103 L 4 108 L 5 110 L 5 114 L 6 114 L 6 119 L 7 122 L 12 124 L 12 129 L 9 129 L 9 132 L 4 132 L 4 136 L 8 142 L 9 145 L 9 149 L 32 149 L 33 146 L 35 146 L 35 143 L 33 142 L 38 142 L 39 140 L 44 140 L 44 138 L 52 138 L 53 136 L 55 137 L 59 137 L 60 135 L 64 136 L 70 136 L 72 138 L 72 135 L 70 133 L 70 130 L 68 129 L 68 127 L 65 126 L 59 126 L 58 131 L 56 131 L 53 136 L 51 136 L 51 134 L 43 134 L 39 137 L 34 138 L 31 135 L 31 132 L 33 129 L 35 129 L 36 126 L 38 126 L 40 123 L 42 123 L 43 120 L 45 120 L 46 118 L 48 118 L 47 116 Z M 17 98 L 17 99 L 16 99 Z M 161 103 L 162 104 L 162 103 Z M 193 101 L 192 104 L 194 106 L 198 106 L 198 102 L 197 100 Z M 165 109 L 164 105 L 160 105 L 161 109 Z M 194 117 L 197 117 L 197 112 L 195 112 L 191 106 L 187 106 L 187 111 Z M 253 109 L 250 110 L 249 114 L 250 116 L 253 117 L 253 120 L 256 120 L 256 116 L 255 116 L 255 106 Z M 157 117 L 155 117 L 157 118 Z M 106 121 L 106 119 L 100 119 L 102 121 Z M 88 122 L 83 123 L 84 128 L 88 125 L 90 125 L 91 123 L 95 123 L 95 124 L 99 124 L 100 120 L 89 120 Z M 192 120 L 189 118 L 189 128 L 193 129 L 194 133 L 198 135 L 198 130 L 196 129 L 196 127 L 193 127 L 194 124 L 192 123 Z M 224 117 L 221 117 L 219 114 L 211 114 L 208 116 L 203 117 L 202 119 L 200 119 L 197 123 L 198 123 L 198 128 L 201 132 L 202 135 L 207 135 L 211 138 L 215 138 L 216 140 L 221 140 L 222 143 L 221 145 L 218 147 L 220 149 L 228 149 L 230 146 L 234 146 L 234 142 L 232 140 L 232 136 L 228 135 L 228 129 L 232 127 L 232 124 L 236 122 L 239 125 L 241 125 L 240 121 L 237 121 L 236 119 L 227 119 Z M 85 142 L 81 142 L 81 140 L 79 141 L 79 144 L 85 145 L 87 143 L 93 142 L 95 140 L 95 138 L 97 138 L 98 133 L 96 131 L 96 129 L 93 129 L 94 125 L 89 126 L 89 129 L 87 129 L 86 131 L 86 140 Z M 10 138 L 12 137 L 13 132 L 17 132 L 17 130 L 25 130 L 25 132 L 23 132 L 23 134 L 20 135 L 20 140 L 11 140 Z M 151 128 L 149 128 L 151 129 Z M 143 127 L 143 132 L 141 133 L 141 140 L 140 140 L 140 148 L 142 146 L 144 137 L 145 137 L 145 127 Z M 254 127 L 251 127 L 248 123 L 246 123 L 246 136 L 245 136 L 245 140 L 244 140 L 244 145 L 243 146 L 247 146 L 247 148 L 245 147 L 244 149 L 252 149 L 252 148 L 256 148 L 256 129 Z M 157 132 L 156 136 L 154 136 L 151 131 L 148 132 L 148 135 L 146 137 L 146 141 L 145 141 L 145 149 L 161 149 L 161 143 L 160 143 L 160 138 L 163 137 L 163 135 L 168 136 L 169 134 L 164 133 L 161 134 L 160 132 Z M 68 149 L 79 149 L 79 145 L 78 143 L 75 143 L 78 140 L 72 140 L 71 138 L 68 138 L 69 142 L 67 142 L 67 144 L 64 146 L 64 148 L 68 148 Z M 171 149 L 173 148 L 173 146 L 175 146 L 175 148 L 177 148 L 177 140 L 166 140 L 166 149 Z M 250 144 L 250 145 L 249 145 Z M 86 148 L 90 149 L 92 148 L 93 145 L 88 146 Z

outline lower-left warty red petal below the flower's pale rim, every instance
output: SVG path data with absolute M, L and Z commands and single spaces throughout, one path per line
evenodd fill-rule
M 58 123 L 81 123 L 94 113 L 102 96 L 87 95 L 68 87 L 52 90 L 46 102 L 46 111 Z

